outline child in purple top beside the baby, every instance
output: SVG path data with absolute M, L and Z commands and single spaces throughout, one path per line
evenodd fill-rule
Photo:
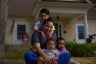
M 59 54 L 69 53 L 69 51 L 65 48 L 64 38 L 58 38 L 57 39 L 57 49 L 59 50 Z M 79 63 L 73 59 L 70 59 L 68 64 L 79 64 Z

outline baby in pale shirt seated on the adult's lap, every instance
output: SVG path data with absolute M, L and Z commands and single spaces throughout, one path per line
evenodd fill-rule
M 53 39 L 48 39 L 45 44 L 45 49 L 43 51 L 48 55 L 50 58 L 50 64 L 57 64 L 58 60 L 58 51 L 55 49 L 55 41 Z M 37 64 L 46 64 L 42 57 L 39 57 Z M 49 63 L 47 63 L 49 64 Z

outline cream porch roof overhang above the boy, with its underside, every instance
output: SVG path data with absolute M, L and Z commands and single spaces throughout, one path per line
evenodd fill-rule
M 73 17 L 84 14 L 91 6 L 88 3 L 64 3 L 64 2 L 37 2 L 33 8 L 32 15 L 38 17 L 42 8 L 47 8 L 52 16 L 57 13 L 62 17 Z

